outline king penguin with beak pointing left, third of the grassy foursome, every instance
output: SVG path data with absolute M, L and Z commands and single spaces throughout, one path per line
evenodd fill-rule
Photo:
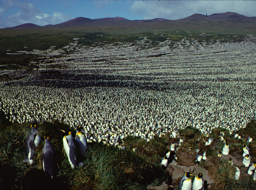
M 66 155 L 68 156 L 71 168 L 74 168 L 75 166 L 83 166 L 83 163 L 79 162 L 78 145 L 71 133 L 71 130 L 69 130 L 68 132 L 65 132 L 60 129 L 60 131 L 65 133 L 65 136 L 63 137 L 63 146 L 65 149 Z

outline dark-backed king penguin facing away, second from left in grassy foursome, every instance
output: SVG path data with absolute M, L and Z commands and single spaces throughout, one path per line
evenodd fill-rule
M 41 157 L 41 164 L 42 168 L 44 170 L 44 174 L 50 175 L 50 177 L 53 179 L 53 177 L 56 177 L 56 170 L 57 170 L 57 154 L 56 154 L 56 148 L 52 145 L 50 139 L 50 133 L 47 133 L 44 136 L 44 148 L 43 153 Z

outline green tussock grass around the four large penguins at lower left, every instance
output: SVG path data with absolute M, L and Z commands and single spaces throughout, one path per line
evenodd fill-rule
M 6 123 L 5 123 L 6 124 Z M 39 123 L 42 142 L 35 152 L 32 166 L 24 164 L 24 149 L 30 123 L 5 125 L 0 123 L 0 185 L 1 189 L 146 189 L 147 185 L 160 185 L 168 179 L 160 167 L 168 138 L 155 137 L 150 143 L 137 137 L 124 139 L 126 150 L 103 143 L 90 143 L 84 167 L 71 168 L 63 148 L 63 132 L 70 127 L 58 121 Z M 73 134 L 75 134 L 75 129 Z M 44 135 L 51 133 L 58 157 L 58 174 L 53 180 L 41 170 Z M 138 147 L 133 152 L 133 145 Z M 148 154 L 148 148 L 152 154 Z M 142 150 L 140 152 L 140 150 Z

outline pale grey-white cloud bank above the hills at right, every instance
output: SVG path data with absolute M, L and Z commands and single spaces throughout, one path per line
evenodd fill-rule
M 192 14 L 236 12 L 256 16 L 256 1 L 135 1 L 130 10 L 143 19 L 182 19 Z

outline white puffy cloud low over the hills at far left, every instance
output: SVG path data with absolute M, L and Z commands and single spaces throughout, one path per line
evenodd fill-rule
M 52 15 L 44 13 L 34 7 L 30 2 L 18 2 L 15 3 L 15 6 L 18 7 L 19 11 L 13 15 L 7 16 L 5 21 L 1 23 L 0 28 L 18 26 L 24 23 L 33 23 L 39 26 L 45 26 L 47 24 L 58 24 L 71 20 L 70 16 L 64 15 L 61 12 L 54 12 Z

